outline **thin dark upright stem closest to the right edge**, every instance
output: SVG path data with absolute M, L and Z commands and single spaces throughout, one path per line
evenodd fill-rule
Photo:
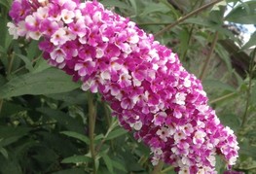
M 256 54 L 256 48 L 254 49 L 254 51 L 252 52 L 251 55 L 251 60 L 250 60 L 250 67 L 249 67 L 249 86 L 247 88 L 246 91 L 246 104 L 245 104 L 245 111 L 244 114 L 242 116 L 242 122 L 241 122 L 241 127 L 244 126 L 244 124 L 247 122 L 247 113 L 248 113 L 248 109 L 249 109 L 249 103 L 250 103 L 250 97 L 251 97 L 251 86 L 252 86 L 252 77 L 253 77 L 253 64 L 254 64 L 254 57 Z

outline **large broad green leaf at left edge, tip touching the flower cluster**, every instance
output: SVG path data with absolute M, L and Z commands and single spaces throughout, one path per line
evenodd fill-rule
M 0 89 L 0 98 L 9 98 L 23 94 L 50 94 L 70 91 L 80 85 L 73 83 L 71 77 L 55 68 L 40 73 L 25 74 L 12 79 Z

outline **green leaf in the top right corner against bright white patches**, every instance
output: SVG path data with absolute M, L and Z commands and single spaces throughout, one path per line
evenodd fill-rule
M 234 8 L 227 17 L 226 20 L 242 23 L 242 24 L 256 24 L 256 1 L 247 1 L 239 4 Z

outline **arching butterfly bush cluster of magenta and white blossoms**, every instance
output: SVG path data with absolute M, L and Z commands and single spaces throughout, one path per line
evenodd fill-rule
M 47 61 L 83 90 L 99 92 L 113 116 L 180 174 L 213 174 L 215 156 L 235 164 L 234 131 L 207 105 L 201 82 L 178 55 L 133 21 L 96 1 L 15 0 L 9 32 L 40 40 Z

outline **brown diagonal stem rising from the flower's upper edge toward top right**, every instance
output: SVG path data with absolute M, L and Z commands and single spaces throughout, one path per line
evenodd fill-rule
M 162 30 L 160 30 L 159 32 L 157 32 L 157 33 L 155 34 L 155 37 L 164 34 L 165 31 L 169 30 L 169 29 L 172 28 L 173 26 L 176 26 L 177 24 L 179 24 L 180 22 L 184 21 L 185 19 L 187 19 L 187 18 L 189 18 L 189 17 L 192 17 L 192 16 L 194 16 L 194 15 L 196 15 L 196 14 L 199 14 L 199 13 L 201 13 L 201 11 L 203 11 L 203 10 L 207 9 L 208 7 L 211 7 L 211 6 L 213 6 L 214 4 L 217 4 L 217 3 L 221 2 L 221 1 L 223 1 L 223 0 L 212 1 L 212 2 L 210 2 L 210 3 L 208 3 L 208 4 L 205 4 L 205 5 L 201 6 L 199 9 L 197 9 L 197 10 L 195 10 L 195 11 L 192 11 L 192 12 L 189 13 L 188 15 L 186 15 L 186 16 L 184 16 L 184 17 L 180 17 L 180 18 L 179 18 L 178 20 L 176 20 L 174 23 L 171 23 L 171 24 L 167 25 L 165 28 L 163 28 Z

